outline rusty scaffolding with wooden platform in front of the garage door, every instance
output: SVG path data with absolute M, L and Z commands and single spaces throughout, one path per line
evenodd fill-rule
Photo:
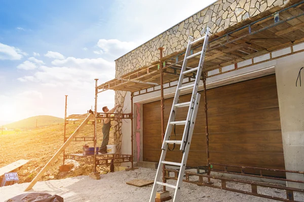
M 219 33 L 210 36 L 210 42 L 206 53 L 206 58 L 201 76 L 204 90 L 204 110 L 206 124 L 206 154 L 207 165 L 204 167 L 205 173 L 200 173 L 200 167 L 197 172 L 185 172 L 184 182 L 194 183 L 199 186 L 209 186 L 234 192 L 276 199 L 280 201 L 296 201 L 294 200 L 294 192 L 304 193 L 303 189 L 291 188 L 286 186 L 274 185 L 269 182 L 253 182 L 240 179 L 232 179 L 227 177 L 218 177 L 211 172 L 233 174 L 236 176 L 255 177 L 259 179 L 271 179 L 283 182 L 293 182 L 303 185 L 304 181 L 285 179 L 279 177 L 271 177 L 265 175 L 266 171 L 271 171 L 286 176 L 293 173 L 303 175 L 303 171 L 290 171 L 271 168 L 256 168 L 235 165 L 223 165 L 216 162 L 210 162 L 209 159 L 209 131 L 208 131 L 208 111 L 207 111 L 207 95 L 206 95 L 206 79 L 223 73 L 232 72 L 241 68 L 246 68 L 255 64 L 261 64 L 278 58 L 303 52 L 304 49 L 294 49 L 294 46 L 304 42 L 304 1 L 293 1 L 285 8 L 279 6 L 268 11 L 262 12 L 257 16 L 244 20 L 241 23 L 233 25 Z M 191 51 L 193 54 L 201 50 L 203 42 L 198 43 Z M 283 55 L 277 55 L 279 50 L 287 50 Z M 181 60 L 184 58 L 185 50 L 172 53 L 163 57 L 163 48 L 160 47 L 159 61 L 152 62 L 148 66 L 143 66 L 135 71 L 122 75 L 96 87 L 97 93 L 107 90 L 119 90 L 131 92 L 131 99 L 134 96 L 140 96 L 151 92 L 160 91 L 161 94 L 161 127 L 162 140 L 164 136 L 164 90 L 176 87 L 176 81 L 179 78 Z M 268 57 L 263 60 L 256 60 L 259 56 Z M 238 63 L 246 61 L 245 65 L 238 66 Z M 197 67 L 199 56 L 189 59 L 187 69 Z M 234 66 L 226 70 L 224 67 Z M 185 74 L 183 84 L 191 83 L 195 75 L 192 73 Z M 132 99 L 133 113 L 133 99 Z M 133 129 L 133 123 L 132 123 Z M 131 134 L 132 153 L 133 153 L 133 131 Z M 133 157 L 133 155 L 132 155 Z M 173 173 L 173 176 L 170 175 Z M 276 176 L 280 176 L 276 175 Z M 177 180 L 178 170 L 163 167 L 163 182 L 166 180 Z M 206 180 L 204 180 L 206 179 Z M 221 183 L 216 186 L 211 179 L 219 180 Z M 248 184 L 251 190 L 244 191 L 236 188 L 229 188 L 226 182 L 240 182 Z M 286 191 L 286 198 L 279 196 L 270 196 L 258 192 L 258 187 L 269 187 Z M 164 187 L 165 190 L 165 187 Z

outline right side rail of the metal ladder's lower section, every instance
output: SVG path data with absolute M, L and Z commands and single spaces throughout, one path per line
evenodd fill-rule
M 178 199 L 179 199 L 181 184 L 182 184 L 183 175 L 184 175 L 185 168 L 186 168 L 186 163 L 187 163 L 188 154 L 189 154 L 190 145 L 191 145 L 191 140 L 192 140 L 192 135 L 193 135 L 193 129 L 194 129 L 194 126 L 195 126 L 195 121 L 196 121 L 196 117 L 197 117 L 197 113 L 198 113 L 198 109 L 199 109 L 201 94 L 197 93 L 196 97 L 197 97 L 197 99 L 196 99 L 193 114 L 192 114 L 192 117 L 191 117 L 188 143 L 186 144 L 185 151 L 182 155 L 182 160 L 181 160 L 182 165 L 180 167 L 179 174 L 178 174 L 178 179 L 177 179 L 177 183 L 176 183 L 176 189 L 175 189 L 175 193 L 174 193 L 174 197 L 173 197 L 173 202 L 178 201 Z

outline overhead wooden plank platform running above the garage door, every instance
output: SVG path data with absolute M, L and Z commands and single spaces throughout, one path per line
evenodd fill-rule
M 277 21 L 279 16 L 279 21 Z M 276 18 L 276 19 L 275 19 Z M 282 8 L 274 7 L 253 18 L 246 19 L 209 38 L 203 71 L 237 64 L 254 57 L 291 47 L 304 42 L 304 1 Z M 193 46 L 193 53 L 202 50 L 203 41 Z M 137 92 L 161 84 L 160 64 L 163 65 L 163 83 L 178 80 L 185 49 L 165 56 L 128 74 L 99 85 L 98 92 L 106 90 Z M 191 58 L 187 68 L 197 67 L 200 56 Z M 190 80 L 195 75 L 185 75 Z

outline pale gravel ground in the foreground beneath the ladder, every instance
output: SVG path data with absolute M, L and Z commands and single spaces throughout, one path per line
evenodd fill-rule
M 61 180 L 40 181 L 29 190 L 29 192 L 47 192 L 57 194 L 64 198 L 65 202 L 95 202 L 95 201 L 148 201 L 152 185 L 146 187 L 135 187 L 127 185 L 126 182 L 133 179 L 154 180 L 156 175 L 155 169 L 140 168 L 135 171 L 120 171 L 101 175 L 100 180 L 93 180 L 89 176 L 79 176 Z M 220 185 L 220 181 L 213 180 L 215 185 Z M 169 180 L 173 184 L 175 181 Z M 13 196 L 24 193 L 23 190 L 29 183 L 15 184 L 12 186 L 0 187 L 0 201 L 5 201 Z M 242 183 L 227 183 L 227 187 L 237 188 L 240 190 L 251 189 Z M 159 187 L 159 190 L 161 187 Z M 168 188 L 171 195 L 172 189 Z M 278 189 L 258 188 L 258 193 L 273 196 L 286 197 L 286 193 Z M 294 195 L 295 200 L 304 201 L 303 194 Z M 172 200 L 171 200 L 172 201 Z M 224 201 L 224 202 L 272 202 L 267 198 L 250 196 L 232 191 L 226 191 L 211 187 L 197 186 L 195 184 L 183 183 L 181 189 L 181 198 L 179 201 Z

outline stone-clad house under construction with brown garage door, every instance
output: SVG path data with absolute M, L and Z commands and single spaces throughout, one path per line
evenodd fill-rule
M 118 58 L 116 78 L 96 88 L 97 93 L 115 90 L 116 103 L 132 110 L 132 126 L 121 120 L 115 126 L 117 149 L 131 149 L 137 166 L 157 168 L 188 36 L 201 38 L 207 27 L 206 101 L 200 101 L 186 163 L 197 172 L 186 172 L 184 181 L 215 187 L 205 183 L 214 178 L 222 182 L 215 188 L 230 190 L 227 179 L 213 173 L 278 179 L 287 183 L 279 187 L 286 190 L 284 199 L 258 193 L 257 186 L 274 188 L 268 183 L 248 183 L 252 190 L 246 194 L 292 201 L 293 192 L 304 189 L 304 1 L 219 0 Z M 202 46 L 203 41 L 190 50 L 188 70 L 198 67 Z M 183 84 L 193 84 L 196 76 L 189 71 Z M 191 92 L 183 89 L 180 102 Z M 183 120 L 187 110 L 178 110 L 175 120 Z M 181 140 L 182 134 L 176 126 L 170 140 Z M 181 156 L 174 149 L 166 160 Z M 163 171 L 163 182 L 177 180 L 177 170 Z

